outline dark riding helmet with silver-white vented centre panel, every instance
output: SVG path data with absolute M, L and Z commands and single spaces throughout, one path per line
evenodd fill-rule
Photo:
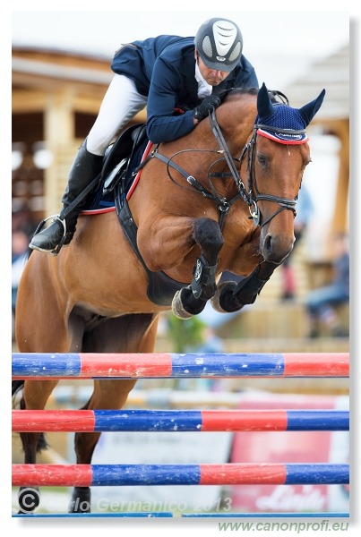
M 242 55 L 241 30 L 228 19 L 203 22 L 194 38 L 194 45 L 203 64 L 217 71 L 232 71 Z

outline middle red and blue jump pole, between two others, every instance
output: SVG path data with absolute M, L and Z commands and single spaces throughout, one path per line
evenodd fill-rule
M 349 430 L 341 410 L 13 410 L 14 432 Z

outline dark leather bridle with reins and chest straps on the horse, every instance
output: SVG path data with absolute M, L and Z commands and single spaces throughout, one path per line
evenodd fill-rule
M 184 185 L 177 183 L 174 177 L 171 175 L 170 168 L 175 169 L 179 174 L 183 175 L 190 185 L 193 186 L 193 189 L 195 192 L 198 192 L 202 194 L 205 198 L 208 198 L 209 200 L 213 200 L 217 203 L 218 209 L 219 209 L 219 227 L 222 229 L 224 224 L 224 219 L 226 215 L 228 214 L 229 209 L 231 206 L 235 203 L 236 200 L 239 200 L 240 198 L 245 201 L 245 203 L 248 205 L 248 209 L 250 212 L 250 218 L 254 221 L 254 226 L 260 226 L 261 228 L 268 224 L 272 218 L 276 217 L 281 211 L 283 210 L 291 210 L 296 217 L 296 204 L 297 204 L 297 197 L 293 200 L 288 198 L 282 198 L 279 196 L 273 196 L 271 194 L 262 193 L 259 192 L 258 186 L 257 186 L 257 180 L 255 175 L 255 155 L 256 155 L 256 143 L 257 143 L 257 131 L 260 128 L 263 129 L 270 129 L 269 125 L 263 125 L 263 124 L 254 124 L 254 132 L 251 137 L 251 140 L 248 141 L 245 144 L 244 149 L 242 150 L 241 156 L 239 158 L 234 158 L 230 154 L 227 142 L 224 139 L 224 136 L 220 130 L 219 124 L 217 122 L 216 114 L 213 109 L 213 111 L 209 115 L 210 124 L 211 124 L 211 130 L 216 138 L 216 140 L 219 143 L 219 149 L 183 149 L 181 151 L 177 151 L 172 155 L 172 157 L 168 158 L 159 153 L 159 144 L 156 146 L 155 149 L 150 153 L 149 158 L 146 158 L 141 166 L 138 166 L 138 168 L 133 172 L 134 174 L 139 171 L 141 167 L 143 167 L 146 162 L 150 158 L 159 158 L 162 162 L 164 162 L 167 165 L 167 173 L 168 177 L 173 183 L 176 183 L 177 186 L 181 188 L 186 188 Z M 305 131 L 293 131 L 290 129 L 279 129 L 275 127 L 271 127 L 271 130 L 274 132 L 280 132 L 283 134 L 299 134 Z M 210 183 L 210 189 L 206 189 L 201 183 L 199 183 L 193 175 L 189 175 L 185 172 L 185 170 L 178 166 L 173 159 L 179 155 L 183 154 L 185 152 L 212 152 L 217 153 L 221 155 L 221 158 L 217 159 L 215 162 L 211 164 L 211 166 L 214 166 L 216 163 L 219 162 L 219 160 L 225 160 L 229 172 L 226 173 L 211 173 L 211 166 L 208 170 L 208 179 Z M 240 169 L 242 166 L 242 163 L 244 159 L 246 158 L 246 172 L 248 174 L 247 177 L 247 189 L 245 188 L 245 183 L 242 181 L 240 176 Z M 235 163 L 239 164 L 239 169 L 236 166 Z M 211 178 L 213 177 L 221 177 L 221 178 L 228 178 L 232 177 L 236 183 L 236 187 L 238 190 L 238 193 L 234 198 L 231 200 L 227 200 L 223 196 L 219 196 L 218 192 L 214 188 L 213 184 L 211 183 Z M 269 217 L 263 218 L 262 212 L 260 208 L 258 207 L 258 201 L 264 200 L 264 201 L 271 201 L 274 203 L 279 204 L 279 209 L 275 210 Z

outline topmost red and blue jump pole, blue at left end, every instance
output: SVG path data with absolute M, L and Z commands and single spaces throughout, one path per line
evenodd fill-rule
M 13 353 L 13 379 L 348 377 L 348 353 Z

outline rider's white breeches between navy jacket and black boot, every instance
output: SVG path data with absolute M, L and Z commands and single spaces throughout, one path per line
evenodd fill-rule
M 93 155 L 103 156 L 109 143 L 125 124 L 147 104 L 134 82 L 122 74 L 115 74 L 99 109 L 95 124 L 87 138 L 87 149 Z

